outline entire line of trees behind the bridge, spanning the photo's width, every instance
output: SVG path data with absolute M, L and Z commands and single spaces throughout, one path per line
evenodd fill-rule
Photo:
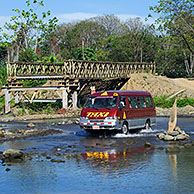
M 140 18 L 121 21 L 103 15 L 58 24 L 50 11 L 38 15 L 43 1 L 27 0 L 28 9 L 13 9 L 15 16 L 0 43 L 0 61 L 63 62 L 66 59 L 115 62 L 155 62 L 157 73 L 193 77 L 194 0 L 158 0 L 155 24 Z M 149 17 L 152 17 L 149 15 Z

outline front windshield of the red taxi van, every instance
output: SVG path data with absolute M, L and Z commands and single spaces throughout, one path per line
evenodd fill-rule
M 112 109 L 117 106 L 117 96 L 92 96 L 85 103 L 84 108 L 107 108 Z

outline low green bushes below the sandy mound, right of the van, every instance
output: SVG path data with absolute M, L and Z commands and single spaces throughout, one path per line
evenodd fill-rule
M 171 108 L 174 104 L 175 98 L 166 100 L 168 96 L 153 97 L 156 107 Z M 194 98 L 177 99 L 177 107 L 194 106 Z

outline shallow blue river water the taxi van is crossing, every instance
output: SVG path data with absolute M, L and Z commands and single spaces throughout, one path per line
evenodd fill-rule
M 156 138 L 167 129 L 168 118 L 158 117 L 147 131 L 107 137 L 91 136 L 78 125 L 51 125 L 58 121 L 36 121 L 36 127 L 60 129 L 61 134 L 0 145 L 0 151 L 30 153 L 21 163 L 0 165 L 1 194 L 194 193 L 194 146 L 169 154 L 166 147 L 174 144 Z M 192 139 L 193 123 L 194 118 L 178 118 Z M 5 128 L 26 124 L 10 122 Z M 145 142 L 153 146 L 145 148 Z

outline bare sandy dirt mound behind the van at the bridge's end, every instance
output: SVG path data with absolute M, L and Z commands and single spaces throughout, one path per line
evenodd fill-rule
M 171 79 L 147 73 L 131 74 L 131 78 L 121 90 L 145 90 L 153 96 L 171 95 L 185 89 L 182 97 L 194 98 L 194 80 L 184 78 Z

